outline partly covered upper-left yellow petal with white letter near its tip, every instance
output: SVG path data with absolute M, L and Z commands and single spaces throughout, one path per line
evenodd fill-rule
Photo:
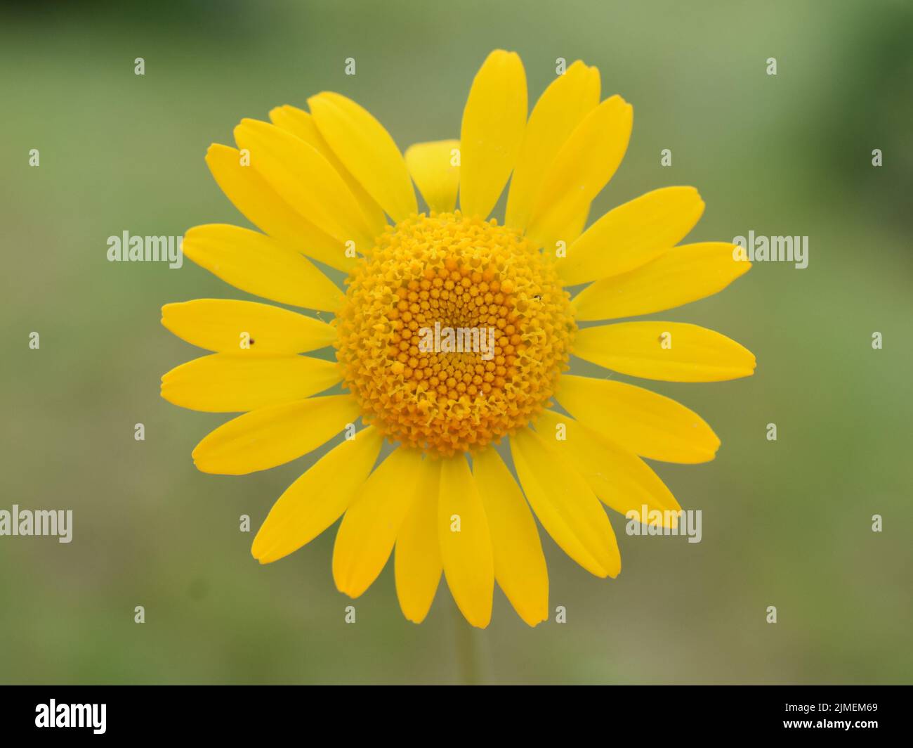
M 299 251 L 332 268 L 348 272 L 355 264 L 345 247 L 291 208 L 251 166 L 241 165 L 241 153 L 227 145 L 212 144 L 206 165 L 226 197 L 257 229 L 289 249 Z

